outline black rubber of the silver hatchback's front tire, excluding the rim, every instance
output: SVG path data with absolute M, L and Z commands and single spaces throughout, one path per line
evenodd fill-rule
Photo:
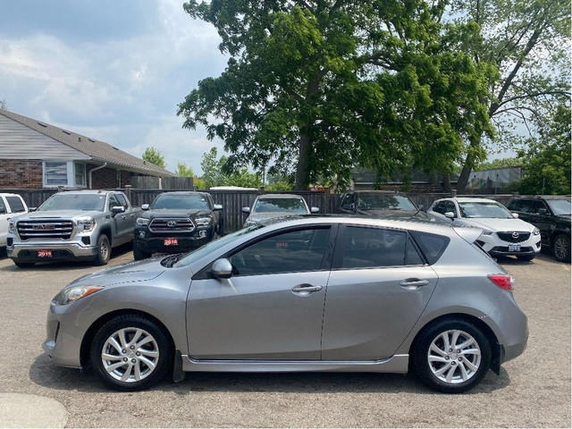
M 123 328 L 140 328 L 147 331 L 155 339 L 159 349 L 159 361 L 153 373 L 149 374 L 140 382 L 126 383 L 115 380 L 111 375 L 107 374 L 103 362 L 101 361 L 101 352 L 105 345 L 105 341 L 114 333 Z M 120 315 L 104 324 L 97 332 L 93 339 L 90 349 L 91 365 L 99 379 L 117 391 L 140 391 L 147 389 L 154 383 L 157 383 L 164 377 L 172 359 L 172 347 L 168 340 L 167 334 L 163 328 L 155 322 L 140 315 Z

